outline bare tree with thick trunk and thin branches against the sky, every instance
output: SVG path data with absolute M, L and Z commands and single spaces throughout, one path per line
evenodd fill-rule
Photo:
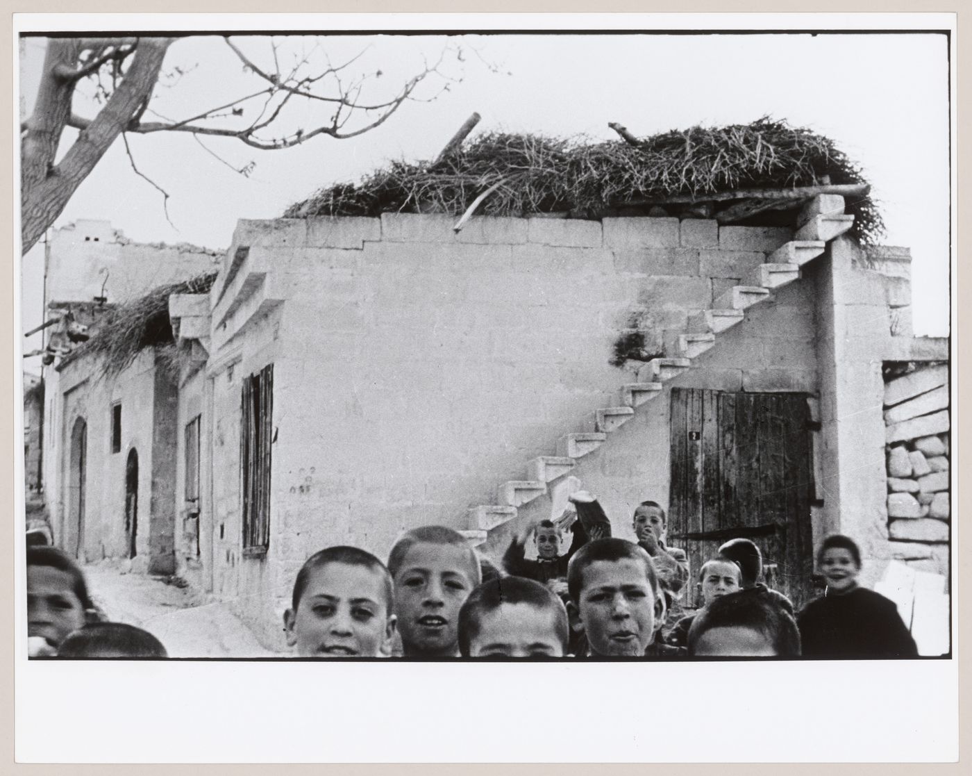
M 348 139 L 385 123 L 406 101 L 431 101 L 448 90 L 451 83 L 461 81 L 440 70 L 447 53 L 455 53 L 456 59 L 462 60 L 461 50 L 446 46 L 437 61 L 430 63 L 426 60 L 424 68 L 399 88 L 365 102 L 369 86 L 381 78 L 382 72 L 355 73 L 349 78 L 348 68 L 358 62 L 367 49 L 335 66 L 318 41 L 313 47 L 303 45 L 294 51 L 291 67 L 291 56 L 284 55 L 286 50 L 282 42 L 271 38 L 268 58 L 272 64 L 261 67 L 240 46 L 225 37 L 227 48 L 249 74 L 262 82 L 256 85 L 260 88 L 189 118 L 175 120 L 163 116 L 150 105 L 159 81 L 167 78 L 161 71 L 161 64 L 172 41 L 134 37 L 54 38 L 48 41 L 35 111 L 20 127 L 21 239 L 24 251 L 52 224 L 81 181 L 120 134 L 132 169 L 165 197 L 163 205 L 168 219 L 168 194 L 138 169 L 128 145 L 126 135 L 129 133 L 189 133 L 207 153 L 234 171 L 248 175 L 254 162 L 237 169 L 209 149 L 202 142 L 203 137 L 227 137 L 262 151 L 292 148 L 319 135 Z M 323 62 L 320 60 L 322 53 Z M 179 67 L 175 72 L 180 76 L 185 73 Z M 431 76 L 444 81 L 444 85 L 437 91 L 434 88 L 418 91 L 423 82 L 431 80 Z M 92 88 L 82 86 L 88 83 Z M 99 105 L 93 118 L 81 115 L 83 111 L 76 114 L 72 110 L 79 89 Z M 295 122 L 295 119 L 303 121 L 299 119 L 301 114 L 293 110 L 295 105 L 301 104 L 296 97 L 307 101 L 302 103 L 304 106 L 324 103 L 331 109 L 324 109 L 326 115 L 318 114 L 310 126 L 301 125 Z M 255 99 L 259 101 L 252 103 Z M 160 121 L 144 121 L 147 114 Z M 241 118 L 244 115 L 246 118 Z M 55 165 L 66 127 L 78 129 L 79 134 L 63 159 Z

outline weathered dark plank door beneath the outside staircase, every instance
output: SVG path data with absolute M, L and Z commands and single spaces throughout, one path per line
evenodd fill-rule
M 796 607 L 810 600 L 809 421 L 804 394 L 672 390 L 669 537 L 694 574 L 723 542 L 745 537 L 762 550 L 771 587 Z

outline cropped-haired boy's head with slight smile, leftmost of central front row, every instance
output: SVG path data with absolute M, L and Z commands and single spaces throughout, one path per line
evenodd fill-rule
M 395 598 L 385 564 L 359 547 L 328 547 L 304 562 L 284 613 L 287 645 L 301 657 L 391 653 Z

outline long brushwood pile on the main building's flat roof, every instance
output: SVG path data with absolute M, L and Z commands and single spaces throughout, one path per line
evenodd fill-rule
M 639 138 L 618 123 L 608 125 L 618 140 L 503 132 L 465 143 L 454 137 L 434 160 L 392 161 L 358 183 L 331 185 L 295 202 L 284 217 L 448 213 L 465 223 L 474 212 L 791 226 L 815 194 L 842 194 L 854 216 L 851 236 L 861 246 L 878 244 L 884 233 L 861 168 L 810 129 L 764 117 Z

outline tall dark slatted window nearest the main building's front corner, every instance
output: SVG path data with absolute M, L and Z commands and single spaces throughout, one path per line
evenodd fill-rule
M 243 554 L 262 555 L 270 544 L 270 444 L 273 441 L 273 365 L 243 380 L 240 466 Z

